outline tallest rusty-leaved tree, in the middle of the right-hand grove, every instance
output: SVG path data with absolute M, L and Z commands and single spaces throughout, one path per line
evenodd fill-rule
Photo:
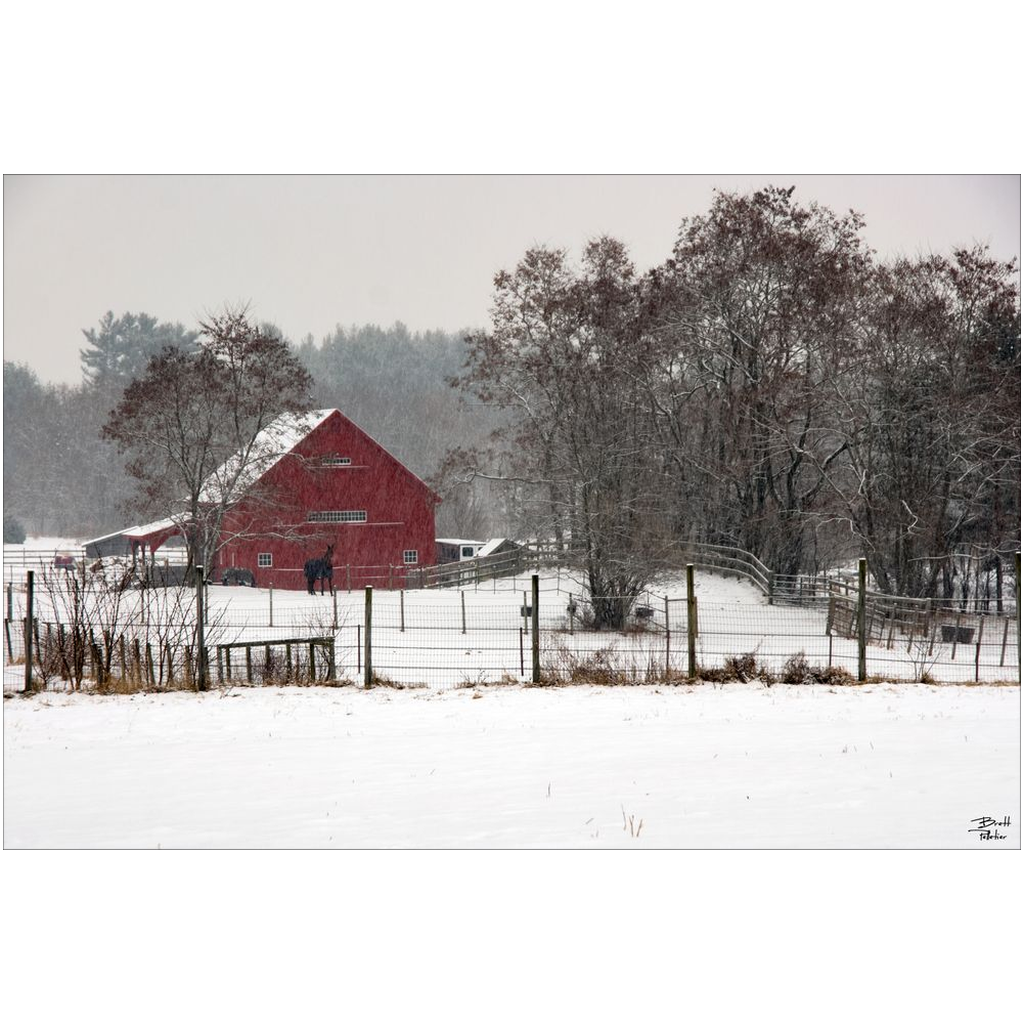
M 793 188 L 719 193 L 650 275 L 659 330 L 647 394 L 678 479 L 677 528 L 807 562 L 825 474 L 846 440 L 823 384 L 849 364 L 869 266 L 861 218 Z

